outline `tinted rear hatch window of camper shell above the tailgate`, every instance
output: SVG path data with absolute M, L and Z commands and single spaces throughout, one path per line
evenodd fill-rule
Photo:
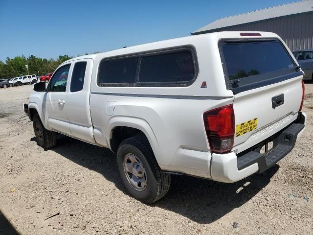
M 246 91 L 296 76 L 296 65 L 278 40 L 225 41 L 220 49 L 230 90 Z

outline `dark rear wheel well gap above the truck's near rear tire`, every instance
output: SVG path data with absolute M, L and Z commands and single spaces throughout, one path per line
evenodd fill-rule
M 144 138 L 147 139 L 146 135 L 140 131 L 139 129 L 128 127 L 128 126 L 116 126 L 114 129 L 112 129 L 111 139 L 110 139 L 110 145 L 111 150 L 116 153 L 117 148 L 120 145 L 120 143 L 130 137 L 133 137 L 135 135 L 142 134 Z M 147 139 L 148 141 L 148 139 Z M 149 142 L 149 141 L 148 141 Z

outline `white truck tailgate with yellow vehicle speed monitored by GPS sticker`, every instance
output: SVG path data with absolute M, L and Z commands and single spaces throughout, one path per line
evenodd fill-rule
M 301 80 L 302 76 L 235 94 L 236 152 L 267 139 L 297 118 L 302 100 Z M 283 104 L 273 108 L 272 99 L 277 96 L 283 96 Z

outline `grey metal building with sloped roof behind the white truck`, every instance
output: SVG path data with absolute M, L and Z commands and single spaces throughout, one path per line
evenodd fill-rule
M 313 0 L 297 1 L 225 17 L 194 31 L 268 31 L 278 34 L 291 50 L 313 48 Z

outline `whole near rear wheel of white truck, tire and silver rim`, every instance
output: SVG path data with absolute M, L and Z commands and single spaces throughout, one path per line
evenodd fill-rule
M 149 142 L 143 136 L 122 141 L 117 165 L 125 188 L 144 203 L 162 198 L 171 185 L 171 175 L 161 172 Z

